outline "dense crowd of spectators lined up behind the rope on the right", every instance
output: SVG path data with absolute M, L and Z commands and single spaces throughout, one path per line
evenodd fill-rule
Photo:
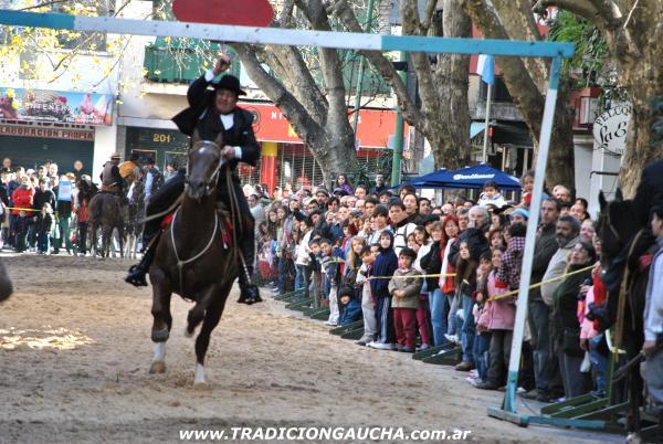
M 534 177 L 516 201 L 486 182 L 475 201 L 441 205 L 403 186 L 352 187 L 340 175 L 269 197 L 249 191 L 256 278 L 275 294 L 302 289 L 328 307 L 328 326 L 364 321 L 359 346 L 414 352 L 455 342 L 477 389 L 505 385 L 527 224 L 537 223 L 519 387 L 544 402 L 606 391 L 607 346 L 589 304 L 602 304 L 600 241 L 585 199 L 556 186 L 529 221 Z M 575 273 L 573 273 L 575 272 Z

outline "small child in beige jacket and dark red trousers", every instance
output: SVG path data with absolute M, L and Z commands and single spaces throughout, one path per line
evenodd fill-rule
M 398 351 L 413 353 L 417 340 L 417 307 L 421 289 L 421 274 L 412 268 L 417 253 L 403 247 L 398 256 L 399 267 L 389 281 L 389 294 L 393 308 L 393 328 Z

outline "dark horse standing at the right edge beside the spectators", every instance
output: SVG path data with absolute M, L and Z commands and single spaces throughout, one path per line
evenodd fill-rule
M 641 257 L 648 253 L 648 246 L 655 246 L 655 243 L 651 245 L 646 226 L 638 222 L 642 218 L 634 216 L 641 209 L 636 208 L 634 201 L 623 200 L 621 191 L 618 190 L 617 199 L 610 202 L 607 202 L 601 193 L 599 202 L 601 213 L 598 234 L 601 239 L 601 266 L 603 271 L 608 271 L 603 275 L 604 281 L 621 281 L 621 285 L 608 292 L 607 316 L 603 317 L 604 325 L 601 327 L 607 328 L 609 324 L 615 323 L 615 341 L 625 350 L 627 361 L 630 361 L 638 356 L 644 342 L 643 317 L 649 264 Z M 623 272 L 614 267 L 614 261 L 625 263 Z M 609 276 L 610 273 L 622 274 Z M 639 366 L 633 366 L 627 373 L 625 384 L 625 395 L 629 401 L 627 430 L 638 434 L 640 406 L 643 403 L 643 381 Z

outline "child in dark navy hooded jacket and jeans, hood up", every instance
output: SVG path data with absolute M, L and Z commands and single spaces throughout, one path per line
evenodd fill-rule
M 393 251 L 393 234 L 385 230 L 380 234 L 380 254 L 376 257 L 373 276 L 393 276 L 398 268 L 398 257 Z M 389 279 L 372 278 L 370 289 L 376 300 L 377 339 L 368 347 L 378 350 L 393 350 L 396 335 L 393 331 L 393 311 L 391 309 L 391 295 L 389 294 Z

